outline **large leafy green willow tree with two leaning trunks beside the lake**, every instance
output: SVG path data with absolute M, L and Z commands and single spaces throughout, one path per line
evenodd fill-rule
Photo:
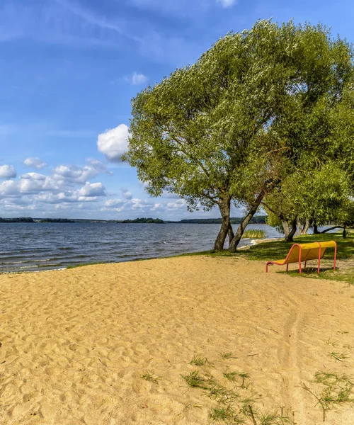
M 236 251 L 265 195 L 326 155 L 312 130 L 341 101 L 350 70 L 348 45 L 324 28 L 259 21 L 132 100 L 123 159 L 152 196 L 176 193 L 190 210 L 217 205 L 215 249 L 229 234 Z M 235 235 L 232 202 L 247 211 Z

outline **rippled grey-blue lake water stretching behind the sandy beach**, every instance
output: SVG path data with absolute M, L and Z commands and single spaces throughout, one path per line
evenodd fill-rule
M 193 224 L 0 223 L 0 272 L 206 251 L 212 249 L 219 228 Z M 249 225 L 247 229 L 264 229 L 267 237 L 281 236 L 268 225 Z M 239 246 L 251 243 L 251 239 L 242 239 Z

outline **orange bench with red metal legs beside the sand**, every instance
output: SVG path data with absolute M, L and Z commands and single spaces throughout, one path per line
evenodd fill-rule
M 289 268 L 290 263 L 299 263 L 299 273 L 302 273 L 301 263 L 304 261 L 304 267 L 309 260 L 318 259 L 317 273 L 319 273 L 319 266 L 321 259 L 324 256 L 327 248 L 334 248 L 334 264 L 333 270 L 336 270 L 337 258 L 337 244 L 334 241 L 329 242 L 312 242 L 311 244 L 293 244 L 285 260 L 268 261 L 265 265 L 265 272 L 268 272 L 269 264 L 277 264 L 278 266 L 287 265 Z

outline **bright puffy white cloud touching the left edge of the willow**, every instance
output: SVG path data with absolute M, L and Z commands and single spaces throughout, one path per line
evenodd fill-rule
M 116 128 L 105 130 L 98 135 L 98 151 L 105 154 L 105 157 L 112 162 L 120 162 L 122 154 L 127 152 L 128 148 L 128 127 L 120 124 Z

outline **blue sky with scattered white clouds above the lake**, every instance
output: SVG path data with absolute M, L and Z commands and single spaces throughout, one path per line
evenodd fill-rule
M 354 41 L 351 0 L 0 0 L 0 217 L 218 217 L 120 161 L 130 101 L 263 18 Z

